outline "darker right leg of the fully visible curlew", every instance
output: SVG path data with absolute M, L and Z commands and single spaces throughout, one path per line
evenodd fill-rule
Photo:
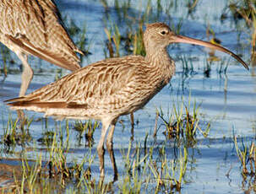
M 114 155 L 114 152 L 113 152 L 113 134 L 114 134 L 114 131 L 115 131 L 116 122 L 117 122 L 117 119 L 112 121 L 111 129 L 108 132 L 107 137 L 106 137 L 106 148 L 107 148 L 107 151 L 108 151 L 108 153 L 110 155 L 110 158 L 112 160 L 112 167 L 113 167 L 113 170 L 114 170 L 114 181 L 117 181 L 117 178 L 118 178 L 117 164 L 116 164 L 116 159 L 115 159 L 115 155 Z

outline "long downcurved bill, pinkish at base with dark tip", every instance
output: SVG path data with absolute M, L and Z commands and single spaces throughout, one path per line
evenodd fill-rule
M 171 42 L 172 43 L 181 42 L 181 43 L 188 43 L 188 44 L 199 45 L 199 46 L 206 46 L 211 49 L 226 52 L 227 54 L 231 55 L 231 57 L 236 58 L 237 61 L 243 65 L 243 67 L 245 67 L 246 69 L 249 69 L 248 65 L 242 61 L 242 58 L 238 57 L 235 53 L 227 50 L 226 48 L 224 48 L 222 46 L 217 46 L 215 44 L 212 44 L 212 43 L 204 41 L 204 40 L 198 40 L 198 39 L 189 38 L 189 37 L 186 37 L 183 35 L 173 35 L 173 34 L 171 35 Z

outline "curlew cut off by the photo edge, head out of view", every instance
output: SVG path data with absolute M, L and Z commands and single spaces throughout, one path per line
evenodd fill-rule
M 68 36 L 52 0 L 0 0 L 0 41 L 23 64 L 19 96 L 25 95 L 33 78 L 28 55 L 71 71 L 80 67 L 76 52 L 83 52 Z

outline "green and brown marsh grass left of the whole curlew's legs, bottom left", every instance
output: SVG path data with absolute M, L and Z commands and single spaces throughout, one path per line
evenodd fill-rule
M 51 141 L 46 143 L 46 158 L 43 157 L 44 152 L 39 152 L 35 160 L 30 160 L 27 157 L 30 153 L 27 153 L 26 149 L 20 154 L 20 170 L 13 172 L 15 179 L 10 188 L 14 193 L 62 192 L 70 184 L 79 188 L 83 180 L 91 180 L 90 165 L 94 156 L 89 151 L 79 163 L 75 159 L 68 162 L 68 154 L 70 154 L 68 122 L 65 127 L 61 127 L 61 122 L 56 127 L 55 131 L 45 132 L 51 137 Z M 37 150 L 36 144 L 34 146 L 30 149 L 33 152 Z M 87 165 L 85 169 L 84 163 Z M 6 191 L 9 191 L 8 188 Z

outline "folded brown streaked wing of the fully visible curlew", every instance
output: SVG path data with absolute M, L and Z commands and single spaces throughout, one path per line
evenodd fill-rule
M 120 66 L 120 63 L 123 63 L 120 60 L 122 58 L 95 62 L 31 94 L 8 101 L 36 99 L 41 102 L 72 101 L 83 104 L 88 98 L 106 98 L 106 96 L 117 93 L 132 81 L 133 75 L 129 72 L 133 72 L 132 68 L 135 66 L 133 57 L 129 59 L 132 60 L 131 62 L 123 66 Z M 127 58 L 129 57 L 123 57 L 124 60 Z

